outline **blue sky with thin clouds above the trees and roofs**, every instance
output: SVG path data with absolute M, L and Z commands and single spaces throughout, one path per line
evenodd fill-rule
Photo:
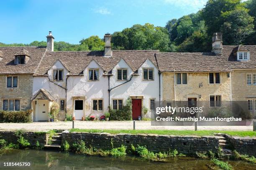
M 3 0 L 0 42 L 55 41 L 78 44 L 82 38 L 122 31 L 134 24 L 164 27 L 168 20 L 196 13 L 207 0 Z

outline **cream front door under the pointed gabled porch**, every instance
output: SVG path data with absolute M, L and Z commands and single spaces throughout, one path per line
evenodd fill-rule
M 36 100 L 36 121 L 48 121 L 48 100 Z

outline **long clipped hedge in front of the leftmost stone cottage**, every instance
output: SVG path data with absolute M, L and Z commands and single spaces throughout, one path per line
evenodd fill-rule
M 0 110 L 0 122 L 1 123 L 27 123 L 32 122 L 31 120 L 32 110 L 21 110 L 21 111 L 5 111 Z

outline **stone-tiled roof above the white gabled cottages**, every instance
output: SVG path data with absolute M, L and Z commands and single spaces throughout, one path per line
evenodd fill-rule
M 110 72 L 121 58 L 136 71 L 148 58 L 156 65 L 154 54 L 159 50 L 112 50 L 112 57 L 104 57 L 103 51 L 46 52 L 35 75 L 47 75 L 57 60 L 69 70 L 69 75 L 81 75 L 87 65 L 95 60 L 105 72 Z

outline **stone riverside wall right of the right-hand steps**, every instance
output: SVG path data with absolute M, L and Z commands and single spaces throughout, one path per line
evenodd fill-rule
M 256 156 L 256 138 L 237 138 L 226 135 L 233 150 L 240 154 Z

